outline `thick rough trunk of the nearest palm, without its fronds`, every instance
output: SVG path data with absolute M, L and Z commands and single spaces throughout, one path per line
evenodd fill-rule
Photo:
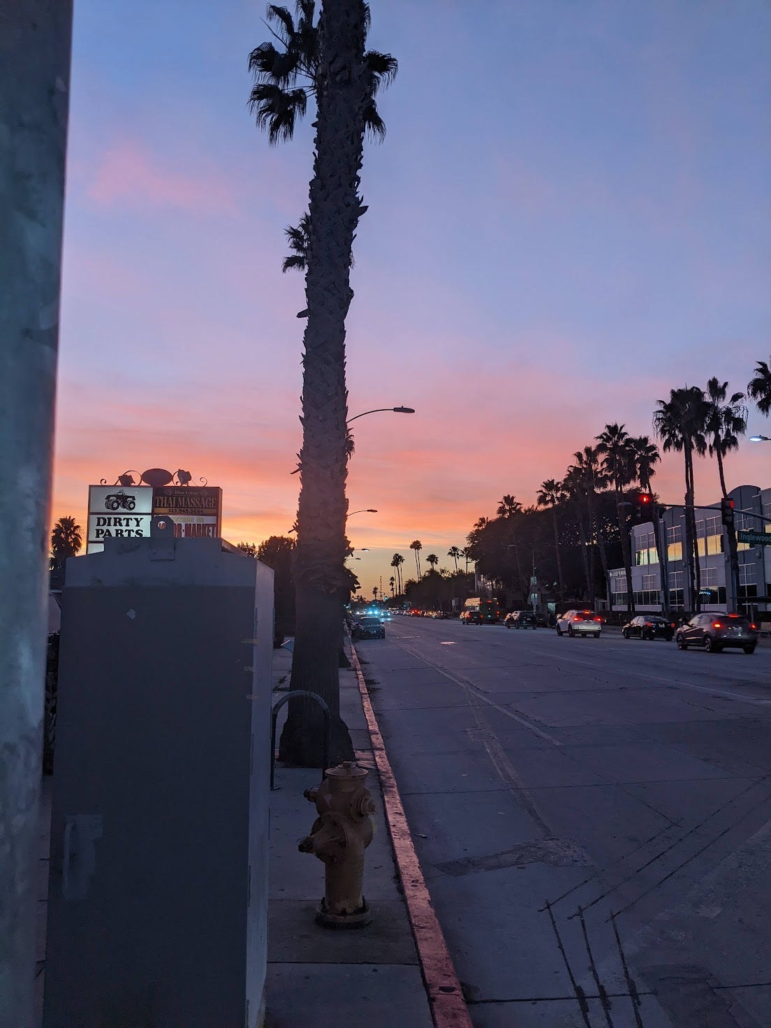
M 361 214 L 366 8 L 362 0 L 328 0 L 321 29 L 316 157 L 310 182 L 307 323 L 303 339 L 301 486 L 297 511 L 297 623 L 292 689 L 317 693 L 333 723 L 333 764 L 353 760 L 340 720 L 338 671 L 340 594 L 352 580 L 345 559 L 347 405 L 345 317 L 350 260 Z M 290 700 L 280 758 L 301 767 L 321 762 L 324 720 L 317 704 Z

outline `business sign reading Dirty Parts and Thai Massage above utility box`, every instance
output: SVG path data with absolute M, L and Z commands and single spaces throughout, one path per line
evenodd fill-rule
M 189 485 L 89 485 L 86 553 L 99 553 L 106 539 L 143 539 L 153 515 L 166 514 L 179 539 L 219 539 L 222 489 Z

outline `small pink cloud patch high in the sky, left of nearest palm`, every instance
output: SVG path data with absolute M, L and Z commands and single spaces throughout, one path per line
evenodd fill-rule
M 216 173 L 194 174 L 164 167 L 146 147 L 131 140 L 113 144 L 89 184 L 98 204 L 176 207 L 204 213 L 233 212 L 232 184 Z

